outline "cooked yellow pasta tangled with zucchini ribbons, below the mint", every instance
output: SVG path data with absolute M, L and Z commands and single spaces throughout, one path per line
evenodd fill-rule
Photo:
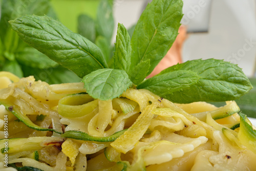
M 248 145 L 240 138 L 246 136 L 241 124 L 252 125 L 247 118 L 241 121 L 234 101 L 220 108 L 174 104 L 136 89 L 102 101 L 87 94 L 83 83 L 49 85 L 8 72 L 0 72 L 0 81 L 3 170 L 256 168 L 255 139 Z M 12 167 L 6 167 L 6 155 Z

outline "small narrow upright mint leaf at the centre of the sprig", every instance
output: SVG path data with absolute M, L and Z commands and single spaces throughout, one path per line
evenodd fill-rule
M 115 52 L 114 52 L 114 68 L 128 71 L 131 65 L 131 38 L 126 28 L 118 23 Z

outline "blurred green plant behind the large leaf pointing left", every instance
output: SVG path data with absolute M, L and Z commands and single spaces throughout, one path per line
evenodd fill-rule
M 57 19 L 50 0 L 3 0 L 0 19 L 0 71 L 18 77 L 34 75 L 49 83 L 77 82 L 81 79 L 46 55 L 28 46 L 13 31 L 9 20 L 26 14 L 48 15 Z

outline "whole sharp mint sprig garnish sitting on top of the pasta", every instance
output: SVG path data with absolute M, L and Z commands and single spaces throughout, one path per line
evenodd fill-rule
M 107 1 L 101 3 L 110 5 Z M 132 38 L 118 25 L 114 57 L 109 61 L 104 47 L 109 47 L 111 27 L 102 30 L 96 22 L 102 39 L 98 36 L 95 45 L 48 16 L 26 15 L 10 24 L 30 46 L 83 77 L 93 98 L 119 97 L 134 84 L 179 103 L 234 100 L 247 93 L 252 86 L 242 69 L 216 59 L 187 61 L 145 79 L 175 41 L 182 16 L 181 0 L 153 0 L 141 14 Z M 112 22 L 111 15 L 108 19 Z

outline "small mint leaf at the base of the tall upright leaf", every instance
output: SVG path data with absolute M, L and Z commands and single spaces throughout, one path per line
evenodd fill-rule
M 133 70 L 130 71 L 130 79 L 133 83 L 138 85 L 147 75 L 148 69 L 150 69 L 150 59 L 140 62 Z

